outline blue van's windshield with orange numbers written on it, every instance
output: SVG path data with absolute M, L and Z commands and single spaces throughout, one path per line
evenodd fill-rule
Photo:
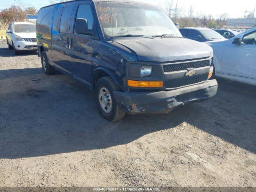
M 182 38 L 178 28 L 158 7 L 123 2 L 96 2 L 105 38 L 116 36 L 158 36 Z M 112 10 L 112 14 L 111 14 Z

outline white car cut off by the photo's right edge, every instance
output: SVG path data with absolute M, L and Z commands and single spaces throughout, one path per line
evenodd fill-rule
M 256 85 L 256 28 L 228 40 L 204 43 L 214 50 L 217 77 Z

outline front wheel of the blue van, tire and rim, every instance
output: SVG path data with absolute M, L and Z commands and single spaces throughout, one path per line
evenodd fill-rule
M 112 78 L 103 77 L 98 80 L 95 90 L 100 114 L 110 122 L 121 120 L 125 113 L 121 111 L 113 95 L 114 91 L 121 91 L 120 86 Z

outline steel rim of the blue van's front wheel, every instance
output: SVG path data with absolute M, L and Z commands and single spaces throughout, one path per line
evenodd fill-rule
M 106 113 L 110 113 L 112 109 L 112 98 L 107 88 L 102 87 L 99 92 L 99 101 L 102 110 Z

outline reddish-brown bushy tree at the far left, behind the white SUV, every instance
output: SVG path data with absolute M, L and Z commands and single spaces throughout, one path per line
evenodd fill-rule
M 10 8 L 3 9 L 0 14 L 4 22 L 23 21 L 27 17 L 26 12 L 22 10 L 20 6 L 15 5 L 10 6 Z

